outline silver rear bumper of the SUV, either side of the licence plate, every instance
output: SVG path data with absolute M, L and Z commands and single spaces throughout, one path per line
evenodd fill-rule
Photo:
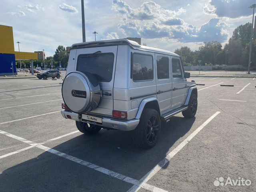
M 66 119 L 68 119 L 68 115 L 71 117 L 72 120 L 75 121 L 81 121 L 81 115 L 67 111 L 67 110 L 61 110 L 60 111 L 62 116 Z M 134 130 L 137 125 L 139 124 L 139 119 L 132 119 L 132 120 L 117 120 L 114 118 L 102 118 L 102 126 L 106 128 L 112 128 L 112 129 L 118 129 L 122 131 L 131 131 Z

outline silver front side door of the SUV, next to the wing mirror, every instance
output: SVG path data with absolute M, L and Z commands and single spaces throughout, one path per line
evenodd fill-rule
M 177 108 L 184 104 L 186 91 L 186 78 L 184 78 L 183 68 L 180 58 L 172 57 L 172 106 Z

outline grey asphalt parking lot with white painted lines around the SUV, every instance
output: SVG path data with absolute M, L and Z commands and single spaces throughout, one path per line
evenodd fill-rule
M 196 117 L 172 117 L 150 150 L 128 132 L 78 132 L 60 114 L 62 79 L 0 80 L 0 191 L 256 191 L 256 79 L 188 80 L 205 84 Z

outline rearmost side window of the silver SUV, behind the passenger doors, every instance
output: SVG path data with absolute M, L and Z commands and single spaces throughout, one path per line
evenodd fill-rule
M 138 53 L 132 54 L 132 80 L 138 82 L 153 79 L 153 57 Z

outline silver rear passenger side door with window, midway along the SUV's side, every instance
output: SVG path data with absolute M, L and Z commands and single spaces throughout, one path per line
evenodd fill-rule
M 155 54 L 156 60 L 156 93 L 163 112 L 170 108 L 172 93 L 172 77 L 170 76 L 170 56 Z

